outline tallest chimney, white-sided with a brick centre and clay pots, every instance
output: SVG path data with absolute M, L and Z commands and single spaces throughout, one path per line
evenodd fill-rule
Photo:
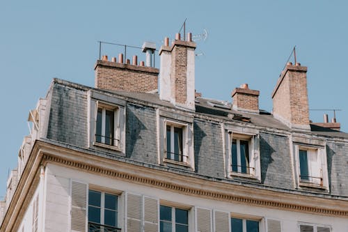
M 187 38 L 180 40 L 180 33 L 177 33 L 171 46 L 168 38 L 164 39 L 159 51 L 159 98 L 194 110 L 196 43 L 191 41 L 191 33 Z

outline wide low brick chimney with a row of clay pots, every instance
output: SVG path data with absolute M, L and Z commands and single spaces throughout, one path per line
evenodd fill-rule
M 95 88 L 144 93 L 157 91 L 158 68 L 145 67 L 143 61 L 140 64 L 137 56 L 133 56 L 132 64 L 128 59 L 123 63 L 123 54 L 118 56 L 118 62 L 115 57 L 108 61 L 107 56 L 103 56 L 95 63 Z

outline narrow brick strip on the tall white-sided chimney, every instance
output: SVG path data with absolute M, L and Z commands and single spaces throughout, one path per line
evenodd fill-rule
M 175 102 L 185 104 L 187 100 L 187 48 L 175 45 L 171 58 L 171 75 L 174 77 L 172 78 L 174 80 L 172 93 L 175 93 Z

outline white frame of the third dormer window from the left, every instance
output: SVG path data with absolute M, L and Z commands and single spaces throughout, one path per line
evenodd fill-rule
M 260 135 L 252 132 L 240 132 L 235 130 L 227 130 L 228 132 L 228 173 L 230 177 L 244 177 L 252 178 L 255 180 L 261 180 L 260 173 Z M 237 144 L 240 144 L 240 141 L 248 141 L 248 158 L 249 171 L 244 173 L 242 172 L 242 167 L 240 165 L 240 160 L 242 160 L 242 155 L 240 153 L 240 146 L 237 146 L 237 169 L 241 171 L 233 171 L 234 164 L 232 163 L 232 142 L 233 140 L 237 141 Z M 238 153 L 239 150 L 239 153 Z M 239 159 L 238 159 L 239 157 Z M 239 160 L 239 162 L 238 162 Z

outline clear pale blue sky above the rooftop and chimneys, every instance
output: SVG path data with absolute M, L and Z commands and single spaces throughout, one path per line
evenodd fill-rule
M 347 1 L 320 0 L 1 1 L 0 196 L 29 134 L 29 110 L 45 98 L 52 78 L 94 86 L 97 41 L 141 47 L 150 40 L 159 48 L 185 18 L 193 35 L 209 33 L 196 49 L 203 54 L 196 56 L 203 97 L 230 101 L 233 88 L 248 83 L 260 91 L 260 108 L 271 111 L 271 92 L 296 45 L 297 61 L 308 66 L 310 109 L 342 109 L 336 118 L 348 132 L 347 12 Z M 121 51 L 104 46 L 102 54 Z M 310 119 L 322 122 L 324 113 L 310 111 Z

